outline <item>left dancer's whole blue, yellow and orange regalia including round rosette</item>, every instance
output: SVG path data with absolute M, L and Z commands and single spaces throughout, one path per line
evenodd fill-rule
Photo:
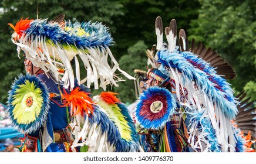
M 40 68 L 35 74 L 21 74 L 9 91 L 9 118 L 25 133 L 21 151 L 139 151 L 133 120 L 116 93 L 95 97 L 90 93 L 91 84 L 103 90 L 107 85 L 118 87 L 123 80 L 116 70 L 134 79 L 114 59 L 108 28 L 99 22 L 63 19 L 59 15 L 54 20 L 21 19 L 15 26 L 9 24 L 15 30 L 12 42 L 18 54 L 22 50 L 26 60 Z M 80 63 L 87 71 L 85 77 L 80 76 Z

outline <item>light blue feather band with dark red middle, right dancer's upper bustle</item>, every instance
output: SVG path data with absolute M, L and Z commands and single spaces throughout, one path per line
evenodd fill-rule
M 234 91 L 223 77 L 216 74 L 210 64 L 198 59 L 196 54 L 191 52 L 160 50 L 157 56 L 159 57 L 158 62 L 161 63 L 159 70 L 166 70 L 167 67 L 172 69 L 173 73 L 184 79 L 181 82 L 183 86 L 194 81 L 198 90 L 206 93 L 211 101 L 220 107 L 226 117 L 235 118 L 238 111 L 237 101 L 233 95 Z

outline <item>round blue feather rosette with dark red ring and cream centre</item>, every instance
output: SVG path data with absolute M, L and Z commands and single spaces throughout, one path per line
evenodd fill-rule
M 161 129 L 174 114 L 176 101 L 169 90 L 149 87 L 140 94 L 135 109 L 137 122 L 147 129 Z

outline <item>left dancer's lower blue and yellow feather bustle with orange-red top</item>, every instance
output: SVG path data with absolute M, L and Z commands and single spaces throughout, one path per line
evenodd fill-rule
M 115 95 L 112 92 L 102 92 L 97 104 L 108 116 L 96 109 L 93 118 L 89 120 L 92 121 L 91 124 L 96 122 L 102 127 L 102 134 L 107 133 L 107 142 L 114 146 L 114 152 L 136 152 L 139 150 L 139 138 L 133 119 L 129 110 Z

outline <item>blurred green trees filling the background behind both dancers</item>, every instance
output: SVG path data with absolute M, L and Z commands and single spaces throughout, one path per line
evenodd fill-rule
M 154 21 L 163 19 L 169 26 L 176 19 L 177 29 L 184 29 L 191 40 L 202 41 L 212 47 L 234 67 L 237 77 L 228 81 L 238 93 L 245 90 L 256 100 L 256 1 L 221 0 L 120 0 L 120 1 L 76 1 L 76 0 L 2 0 L 0 2 L 0 102 L 5 103 L 11 84 L 19 73 L 25 73 L 23 59 L 19 59 L 16 46 L 11 42 L 12 28 L 23 18 L 54 19 L 59 13 L 72 22 L 78 20 L 100 21 L 110 28 L 114 46 L 110 49 L 122 70 L 134 75 L 134 69 L 146 70 L 146 49 L 156 43 Z M 93 90 L 93 94 L 99 91 Z M 120 82 L 118 88 L 108 90 L 119 93 L 124 103 L 132 103 L 134 82 Z

